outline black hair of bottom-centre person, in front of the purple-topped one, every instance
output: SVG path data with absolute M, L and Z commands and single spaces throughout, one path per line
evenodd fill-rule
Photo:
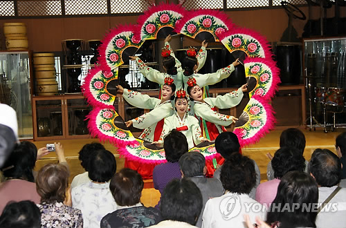
M 191 180 L 173 179 L 163 190 L 160 205 L 163 220 L 195 225 L 202 207 L 201 191 Z

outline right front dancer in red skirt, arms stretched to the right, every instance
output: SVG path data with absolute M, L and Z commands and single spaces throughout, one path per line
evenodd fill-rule
M 190 99 L 194 100 L 194 113 L 201 124 L 202 135 L 208 140 L 215 140 L 219 133 L 226 131 L 224 126 L 233 124 L 238 120 L 234 116 L 217 113 L 217 108 L 237 106 L 242 101 L 244 92 L 248 90 L 247 84 L 238 88 L 237 91 L 203 99 L 203 92 L 196 84 L 196 80 L 190 78 L 187 83 Z

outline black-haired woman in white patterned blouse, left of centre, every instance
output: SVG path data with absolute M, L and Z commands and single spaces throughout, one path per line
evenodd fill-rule
M 116 173 L 116 158 L 107 150 L 90 155 L 90 182 L 71 191 L 72 207 L 82 211 L 84 228 L 100 227 L 101 219 L 118 208 L 109 190 L 109 180 Z

